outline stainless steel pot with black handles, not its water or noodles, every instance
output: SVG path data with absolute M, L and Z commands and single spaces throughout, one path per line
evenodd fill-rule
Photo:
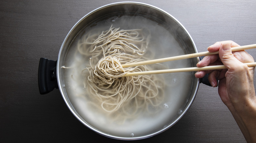
M 178 122 L 193 103 L 199 87 L 200 80 L 195 78 L 194 76 L 192 76 L 191 79 L 187 79 L 188 82 L 191 83 L 191 87 L 184 87 L 189 89 L 189 94 L 186 95 L 186 101 L 183 101 L 184 104 L 178 111 L 177 116 L 175 116 L 175 118 L 167 119 L 167 122 L 164 126 L 158 127 L 152 132 L 145 132 L 139 135 L 133 133 L 127 133 L 127 135 L 119 135 L 115 132 L 108 133 L 108 131 L 103 131 L 100 127 L 95 127 L 89 121 L 84 119 L 83 115 L 81 115 L 81 113 L 74 108 L 74 106 L 76 106 L 75 102 L 72 102 L 72 99 L 70 99 L 69 95 L 70 93 L 67 93 L 65 89 L 67 88 L 67 86 L 69 86 L 65 83 L 63 68 L 61 68 L 63 66 L 63 63 L 65 62 L 65 56 L 69 52 L 72 41 L 85 26 L 94 23 L 98 19 L 107 19 L 109 15 L 118 14 L 118 16 L 120 17 L 124 13 L 128 15 L 130 14 L 132 16 L 140 15 L 159 23 L 160 25 L 164 25 L 165 29 L 169 33 L 174 35 L 174 38 L 179 41 L 179 44 L 184 51 L 184 54 L 197 53 L 196 46 L 187 30 L 178 20 L 176 20 L 167 12 L 161 10 L 160 8 L 138 2 L 113 3 L 93 10 L 92 12 L 81 18 L 73 26 L 73 28 L 69 31 L 61 45 L 57 61 L 48 60 L 45 58 L 40 59 L 38 70 L 38 85 L 41 94 L 46 94 L 52 91 L 54 88 L 59 88 L 64 101 L 66 102 L 68 108 L 74 114 L 74 116 L 78 120 L 80 120 L 81 123 L 83 123 L 91 130 L 95 131 L 96 133 L 115 139 L 136 140 L 157 135 Z M 191 63 L 190 66 L 193 67 L 196 66 L 199 58 L 191 58 L 189 60 Z M 192 73 L 192 75 L 193 74 L 194 73 Z

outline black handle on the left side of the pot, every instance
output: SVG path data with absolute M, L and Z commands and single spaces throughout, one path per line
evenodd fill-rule
M 38 66 L 38 87 L 40 94 L 47 94 L 58 87 L 57 61 L 40 58 Z

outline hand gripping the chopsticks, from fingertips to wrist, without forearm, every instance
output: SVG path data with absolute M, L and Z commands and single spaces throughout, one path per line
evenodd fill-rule
M 231 47 L 239 46 L 233 41 L 221 41 L 209 46 L 209 52 L 219 51 L 219 55 L 205 56 L 197 67 L 222 65 L 227 69 L 198 71 L 195 77 L 202 78 L 209 73 L 208 80 L 212 87 L 217 86 L 219 80 L 219 95 L 227 106 L 234 103 L 242 103 L 248 99 L 255 99 L 253 85 L 254 67 L 247 67 L 243 63 L 254 62 L 252 56 L 245 51 L 231 52 Z

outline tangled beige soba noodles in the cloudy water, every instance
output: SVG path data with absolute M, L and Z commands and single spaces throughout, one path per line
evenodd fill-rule
M 83 70 L 84 88 L 96 107 L 120 119 L 134 119 L 139 113 L 155 113 L 163 101 L 163 79 L 159 75 L 123 76 L 149 71 L 149 66 L 122 68 L 121 64 L 148 60 L 150 34 L 145 29 L 119 30 L 110 27 L 100 35 L 87 35 L 78 42 L 80 54 L 90 58 Z M 148 52 L 148 56 L 150 52 Z M 161 88 L 159 88 L 161 86 Z

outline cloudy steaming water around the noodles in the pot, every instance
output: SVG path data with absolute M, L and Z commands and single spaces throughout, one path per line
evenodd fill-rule
M 190 95 L 193 74 L 192 72 L 166 73 L 155 75 L 156 78 L 164 79 L 159 89 L 164 90 L 164 99 L 159 107 L 152 108 L 151 113 L 140 114 L 134 119 L 125 118 L 113 119 L 100 108 L 94 108 L 91 103 L 93 100 L 86 98 L 88 93 L 84 88 L 86 76 L 82 76 L 81 71 L 89 66 L 90 57 L 77 52 L 77 42 L 88 32 L 94 34 L 108 30 L 111 25 L 120 27 L 120 29 L 147 29 L 150 34 L 150 43 L 145 55 L 150 55 L 150 59 L 164 58 L 170 56 L 184 55 L 186 48 L 182 41 L 175 38 L 175 35 L 167 31 L 165 25 L 157 20 L 152 20 L 142 16 L 112 15 L 101 20 L 97 20 L 91 25 L 87 25 L 79 32 L 70 45 L 64 61 L 63 75 L 64 88 L 67 92 L 68 99 L 78 115 L 89 125 L 97 130 L 109 135 L 120 137 L 136 137 L 149 135 L 161 130 L 171 123 L 179 114 L 182 113 L 183 107 Z M 168 26 L 168 25 L 167 25 Z M 161 66 L 152 69 L 174 69 L 191 67 L 191 60 L 177 60 L 162 63 Z M 100 103 L 98 103 L 100 106 Z M 153 114 L 152 114 L 153 113 Z M 116 115 L 118 112 L 116 113 Z M 118 120 L 118 121 L 117 121 Z M 123 120 L 123 122 L 120 122 Z

